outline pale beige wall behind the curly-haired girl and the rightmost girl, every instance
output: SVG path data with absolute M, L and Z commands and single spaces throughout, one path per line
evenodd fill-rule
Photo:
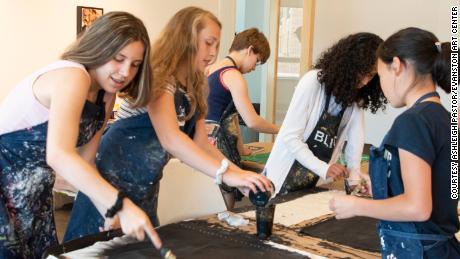
M 386 39 L 399 29 L 415 26 L 449 41 L 450 6 L 458 4 L 458 0 L 317 0 L 313 60 L 341 37 L 360 31 Z M 449 96 L 441 89 L 439 92 L 443 104 L 449 107 Z M 366 142 L 380 144 L 402 111 L 388 106 L 385 113 L 366 113 Z

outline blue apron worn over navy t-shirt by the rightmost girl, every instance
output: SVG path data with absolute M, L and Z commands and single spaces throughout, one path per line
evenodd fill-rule
M 429 93 L 414 105 L 432 96 L 439 97 L 436 92 Z M 385 139 L 382 143 L 386 143 Z M 371 147 L 369 174 L 375 200 L 404 193 L 398 148 L 384 144 L 379 148 Z M 434 223 L 431 225 L 438 229 L 437 234 L 420 234 L 413 222 L 381 220 L 378 232 L 382 258 L 452 258 L 449 257 L 452 249 L 450 242 L 456 241 L 453 235 L 443 233 Z

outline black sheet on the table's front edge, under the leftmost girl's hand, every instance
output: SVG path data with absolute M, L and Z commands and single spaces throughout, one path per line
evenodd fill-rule
M 255 233 L 246 233 L 236 228 L 226 228 L 203 220 L 185 221 L 157 228 L 163 246 L 171 249 L 178 258 L 308 258 L 295 252 L 274 248 L 263 243 Z M 115 235 L 120 235 L 118 231 Z M 115 236 L 113 235 L 113 236 Z M 112 237 L 113 237 L 112 236 Z M 89 242 L 106 240 L 107 232 L 83 237 L 47 251 L 58 257 L 65 252 L 85 248 Z M 77 247 L 85 244 L 85 246 Z M 150 241 L 131 243 L 101 251 L 100 258 L 160 258 L 160 253 Z

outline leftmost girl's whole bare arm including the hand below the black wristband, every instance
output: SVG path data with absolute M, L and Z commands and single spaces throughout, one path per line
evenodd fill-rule
M 79 69 L 59 69 L 49 72 L 52 76 L 44 78 L 46 84 L 53 85 L 46 143 L 46 161 L 70 184 L 87 194 L 105 209 L 110 208 L 117 199 L 118 191 L 105 181 L 96 168 L 83 159 L 75 148 L 79 132 L 81 111 L 89 91 L 90 79 Z M 65 91 L 60 87 L 66 86 Z M 99 142 L 101 134 L 93 141 Z M 91 145 L 90 145 L 91 146 Z M 94 146 L 88 147 L 89 153 Z M 94 151 L 92 151 L 94 152 Z M 129 199 L 123 200 L 123 207 L 117 213 L 123 232 L 144 239 L 144 231 L 152 238 L 157 248 L 161 240 L 152 227 L 147 215 Z

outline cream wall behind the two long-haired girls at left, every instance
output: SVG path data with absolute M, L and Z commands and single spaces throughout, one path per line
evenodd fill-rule
M 25 76 L 56 59 L 76 35 L 76 6 L 127 11 L 142 19 L 153 42 L 179 9 L 219 13 L 217 0 L 0 0 L 0 101 Z

